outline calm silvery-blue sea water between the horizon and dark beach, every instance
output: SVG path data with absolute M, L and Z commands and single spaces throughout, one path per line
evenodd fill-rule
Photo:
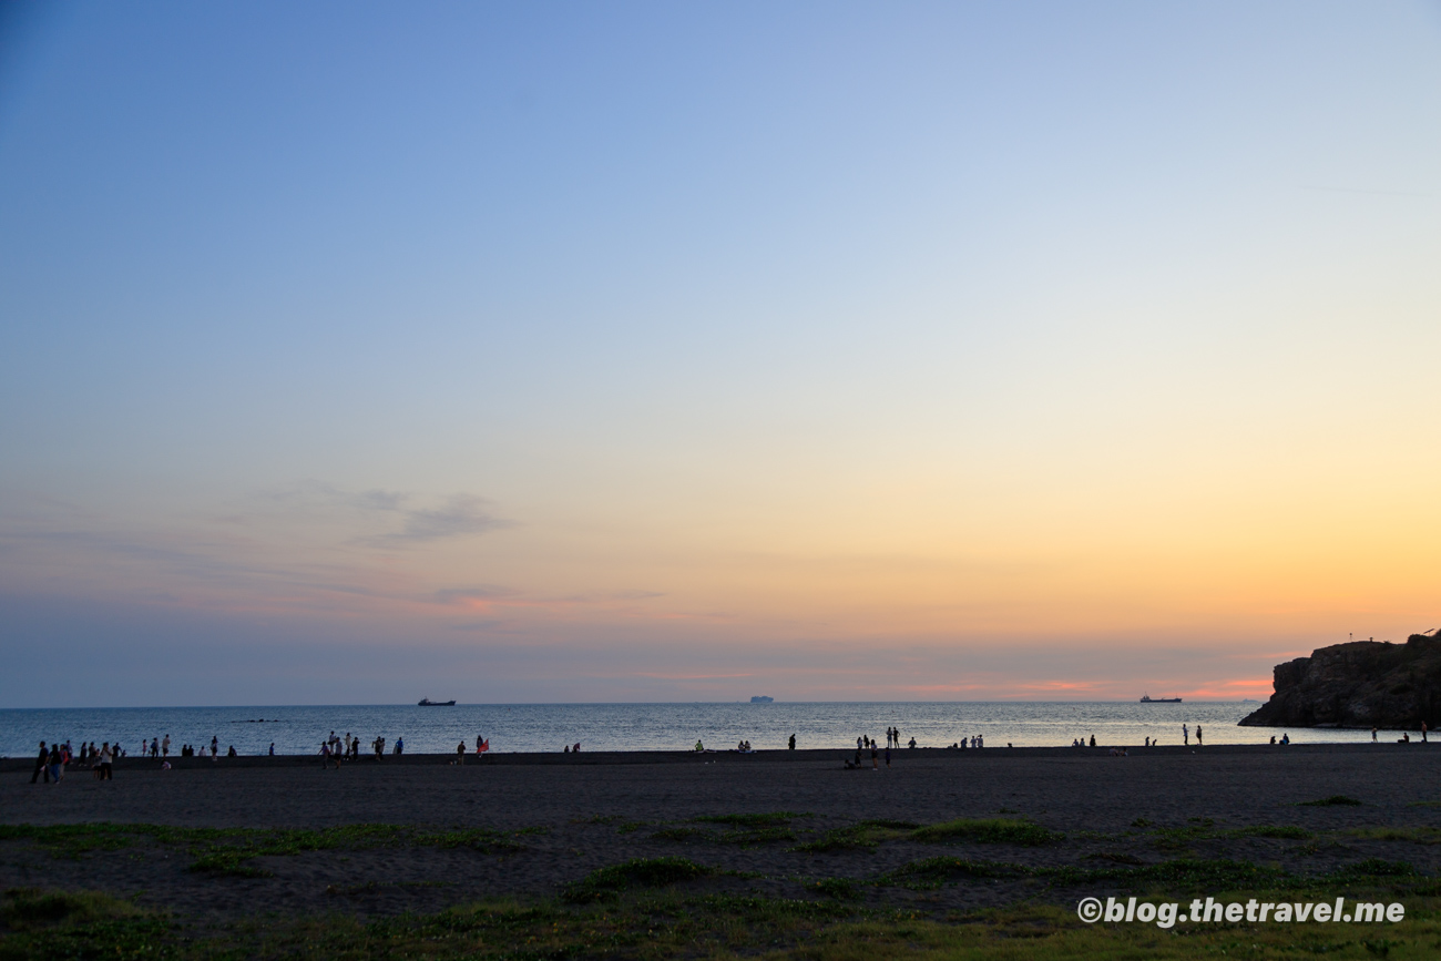
M 922 746 L 950 745 L 983 735 L 987 748 L 1013 743 L 1063 746 L 1072 738 L 1095 735 L 1101 745 L 1140 745 L 1146 738 L 1180 743 L 1180 726 L 1205 728 L 1206 743 L 1261 743 L 1280 729 L 1238 728 L 1257 703 L 1195 702 L 1140 705 L 1134 702 L 898 702 L 898 703 L 774 703 L 774 705 L 352 705 L 313 707 L 66 707 L 0 710 L 0 755 L 27 756 L 39 741 L 118 741 L 131 755 L 146 738 L 170 735 L 171 751 L 182 743 L 220 751 L 235 745 L 244 755 L 313 754 L 331 730 L 357 735 L 370 743 L 396 738 L 405 749 L 448 752 L 457 742 L 490 739 L 491 751 L 561 751 L 579 742 L 586 751 L 683 751 L 700 741 L 708 748 L 733 748 L 749 741 L 757 749 L 784 748 L 795 735 L 798 748 L 855 746 L 856 738 L 885 738 L 901 729 L 902 741 Z M 1369 732 L 1298 729 L 1291 739 L 1366 741 Z M 1399 732 L 1385 732 L 1395 739 Z

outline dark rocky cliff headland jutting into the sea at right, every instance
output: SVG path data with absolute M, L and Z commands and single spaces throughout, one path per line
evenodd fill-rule
M 1417 729 L 1441 720 L 1441 631 L 1405 644 L 1355 641 L 1275 666 L 1275 693 L 1242 720 L 1257 728 Z

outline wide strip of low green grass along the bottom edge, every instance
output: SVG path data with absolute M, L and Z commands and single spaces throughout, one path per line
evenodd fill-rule
M 1038 870 L 986 862 L 968 864 L 970 877 L 980 882 L 1016 877 L 1017 870 L 1020 876 L 1032 876 Z M 1185 862 L 1133 872 L 1130 877 L 1154 885 L 1153 895 L 1164 892 L 1154 895 L 1157 900 L 1189 900 L 1190 895 L 1180 890 L 1183 885 L 1199 885 L 1197 893 L 1239 902 L 1251 896 L 1265 900 L 1321 900 L 1336 893 L 1370 900 L 1399 896 L 1406 903 L 1405 922 L 1182 924 L 1169 931 L 1140 922 L 1084 925 L 1075 916 L 1069 895 L 1058 898 L 1061 903 L 1026 902 L 964 913 L 912 906 L 882 909 L 860 903 L 862 883 L 849 879 L 810 882 L 816 899 L 706 895 L 677 885 L 702 879 L 709 869 L 679 859 L 656 859 L 594 872 L 582 883 L 605 895 L 578 903 L 503 899 L 372 921 L 336 913 L 208 922 L 186 929 L 104 895 L 13 890 L 0 902 L 0 961 L 1189 961 L 1238 957 L 1298 961 L 1319 955 L 1418 961 L 1435 957 L 1441 945 L 1441 902 L 1405 888 L 1414 879 L 1396 873 L 1404 866 L 1376 862 L 1359 867 L 1346 877 L 1297 879 L 1241 863 Z M 1094 882 L 1097 876 L 1089 879 Z M 1111 883 L 1110 877 L 1099 880 Z M 1233 882 L 1241 883 L 1229 886 Z M 1392 885 L 1401 888 L 1388 888 Z

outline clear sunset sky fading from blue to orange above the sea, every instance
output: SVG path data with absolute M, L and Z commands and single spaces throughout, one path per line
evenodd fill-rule
M 1438 3 L 4 4 L 0 705 L 1265 697 L 1438 264 Z

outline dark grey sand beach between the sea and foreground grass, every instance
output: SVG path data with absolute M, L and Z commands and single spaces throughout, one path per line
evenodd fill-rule
M 684 857 L 720 869 L 705 890 L 823 898 L 817 880 L 866 880 L 948 856 L 1020 866 L 1146 866 L 1176 857 L 1274 864 L 1321 875 L 1404 860 L 1441 870 L 1441 751 L 1431 745 L 898 751 L 891 769 L 846 771 L 842 751 L 499 755 L 464 766 L 406 756 L 323 769 L 317 758 L 127 759 L 110 782 L 71 769 L 32 785 L 4 762 L 7 826 L 159 824 L 184 828 L 339 828 L 356 824 L 488 828 L 497 843 L 356 843 L 245 862 L 259 876 L 190 870 L 193 850 L 135 837 L 58 856 L 27 837 L 0 843 L 0 888 L 98 889 L 184 918 L 434 912 L 497 896 L 546 899 L 628 859 Z M 403 761 L 403 762 L 402 762 Z M 1306 805 L 1346 795 L 1359 805 Z M 777 815 L 752 818 L 744 815 Z M 742 815 L 742 817 L 732 817 Z M 731 818 L 696 820 L 696 818 Z M 1003 818 L 1048 843 L 915 836 L 902 823 Z M 866 844 L 844 839 L 863 821 Z M 896 827 L 901 826 L 901 827 Z M 1284 830 L 1275 830 L 1284 828 Z M 1368 837 L 1396 828 L 1395 837 Z M 870 830 L 870 828 L 860 828 Z M 840 831 L 840 834 L 836 834 Z M 1399 840 L 1398 840 L 1399 839 Z M 797 850 L 806 844 L 811 850 Z M 1089 890 L 1097 885 L 1082 885 Z M 1105 888 L 1105 885 L 1099 885 Z M 942 916 L 1020 899 L 1074 905 L 1082 889 L 1027 879 L 960 879 L 915 890 L 863 885 L 865 903 Z

